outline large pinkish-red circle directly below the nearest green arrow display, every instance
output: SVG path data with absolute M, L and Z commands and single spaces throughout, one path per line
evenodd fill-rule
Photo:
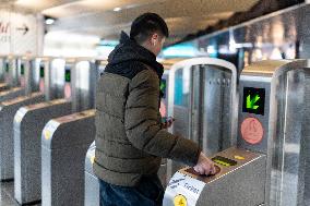
M 262 123 L 255 118 L 247 118 L 241 123 L 242 138 L 252 145 L 263 140 L 264 129 Z

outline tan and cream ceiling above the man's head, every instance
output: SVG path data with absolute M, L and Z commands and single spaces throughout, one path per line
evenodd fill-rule
M 259 0 L 17 0 L 15 5 L 58 19 L 50 31 L 118 38 L 144 12 L 163 16 L 171 39 L 204 29 L 235 12 L 249 10 Z M 114 11 L 120 8 L 120 11 Z M 170 40 L 169 40 L 170 41 Z

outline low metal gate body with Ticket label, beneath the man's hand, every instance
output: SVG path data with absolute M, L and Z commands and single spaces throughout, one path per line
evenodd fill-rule
M 184 168 L 179 170 L 169 182 L 163 205 L 175 206 L 177 196 L 184 197 L 184 205 L 239 206 L 264 203 L 264 180 L 266 156 L 231 147 L 216 156 L 235 160 L 235 166 L 217 166 L 219 172 L 202 177 Z M 235 157 L 243 157 L 243 160 Z

